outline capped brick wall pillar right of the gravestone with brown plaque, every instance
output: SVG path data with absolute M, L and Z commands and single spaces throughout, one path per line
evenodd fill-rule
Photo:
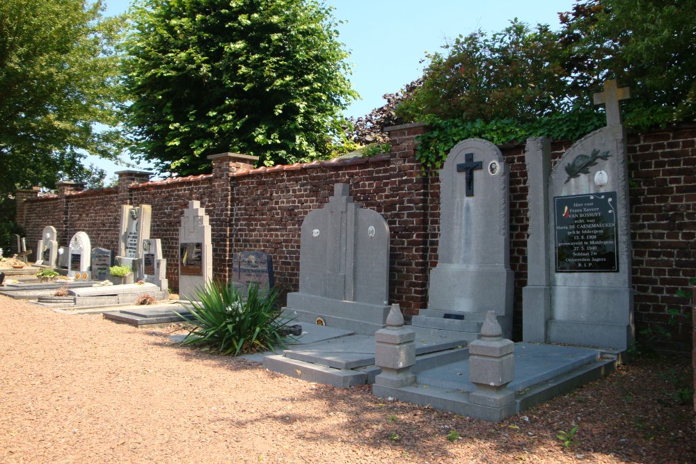
M 227 282 L 232 269 L 232 236 L 235 233 L 232 176 L 253 168 L 258 157 L 239 153 L 212 154 L 213 180 L 205 202 L 213 242 L 213 279 Z

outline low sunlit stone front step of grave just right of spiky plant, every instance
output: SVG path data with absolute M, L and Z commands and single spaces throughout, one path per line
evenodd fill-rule
M 347 388 L 367 383 L 367 372 L 333 369 L 310 362 L 285 358 L 281 355 L 264 356 L 262 365 L 269 371 L 299 378 L 307 382 L 323 383 L 334 387 Z

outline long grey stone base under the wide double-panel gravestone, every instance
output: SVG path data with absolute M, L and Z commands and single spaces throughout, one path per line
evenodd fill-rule
M 299 309 L 302 308 L 302 309 Z M 342 301 L 310 294 L 287 294 L 284 315 L 300 322 L 317 323 L 321 317 L 326 326 L 374 335 L 386 325 L 389 305 L 372 305 L 359 301 Z

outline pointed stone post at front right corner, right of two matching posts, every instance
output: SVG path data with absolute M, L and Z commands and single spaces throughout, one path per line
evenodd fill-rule
M 514 343 L 503 338 L 496 313 L 487 312 L 481 338 L 469 344 L 469 381 L 476 385 L 470 403 L 503 408 L 514 401 L 514 392 L 507 388 L 515 376 L 513 352 Z

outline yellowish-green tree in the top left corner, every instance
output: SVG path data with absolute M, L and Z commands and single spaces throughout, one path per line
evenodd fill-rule
M 123 22 L 102 10 L 100 0 L 0 2 L 0 195 L 84 176 L 84 152 L 119 154 Z

